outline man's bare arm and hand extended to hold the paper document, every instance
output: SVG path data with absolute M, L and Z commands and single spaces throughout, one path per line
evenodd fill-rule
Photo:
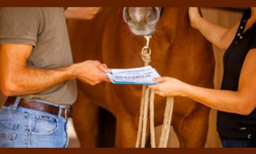
M 3 44 L 0 46 L 0 88 L 4 95 L 38 93 L 68 79 L 80 79 L 91 85 L 109 81 L 109 69 L 99 61 L 84 61 L 71 66 L 44 70 L 30 68 L 27 59 L 31 45 Z

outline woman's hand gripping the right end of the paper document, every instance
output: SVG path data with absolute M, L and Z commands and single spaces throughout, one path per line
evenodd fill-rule
M 154 81 L 159 82 L 159 84 L 150 85 L 149 88 L 156 90 L 156 94 L 163 97 L 184 96 L 184 89 L 188 86 L 188 84 L 172 77 L 159 77 Z

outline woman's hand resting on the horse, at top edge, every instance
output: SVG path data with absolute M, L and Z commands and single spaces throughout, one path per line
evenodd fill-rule
M 201 19 L 201 15 L 198 7 L 190 7 L 188 9 L 188 15 L 190 17 L 190 24 L 193 28 L 197 28 L 196 25 L 199 23 L 199 19 Z

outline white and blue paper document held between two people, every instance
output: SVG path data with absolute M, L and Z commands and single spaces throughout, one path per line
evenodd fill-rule
M 107 76 L 114 84 L 157 84 L 153 79 L 161 77 L 152 66 L 111 69 Z

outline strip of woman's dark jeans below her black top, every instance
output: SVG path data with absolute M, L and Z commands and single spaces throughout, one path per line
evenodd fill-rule
M 221 138 L 223 148 L 255 148 L 253 139 L 227 139 Z

